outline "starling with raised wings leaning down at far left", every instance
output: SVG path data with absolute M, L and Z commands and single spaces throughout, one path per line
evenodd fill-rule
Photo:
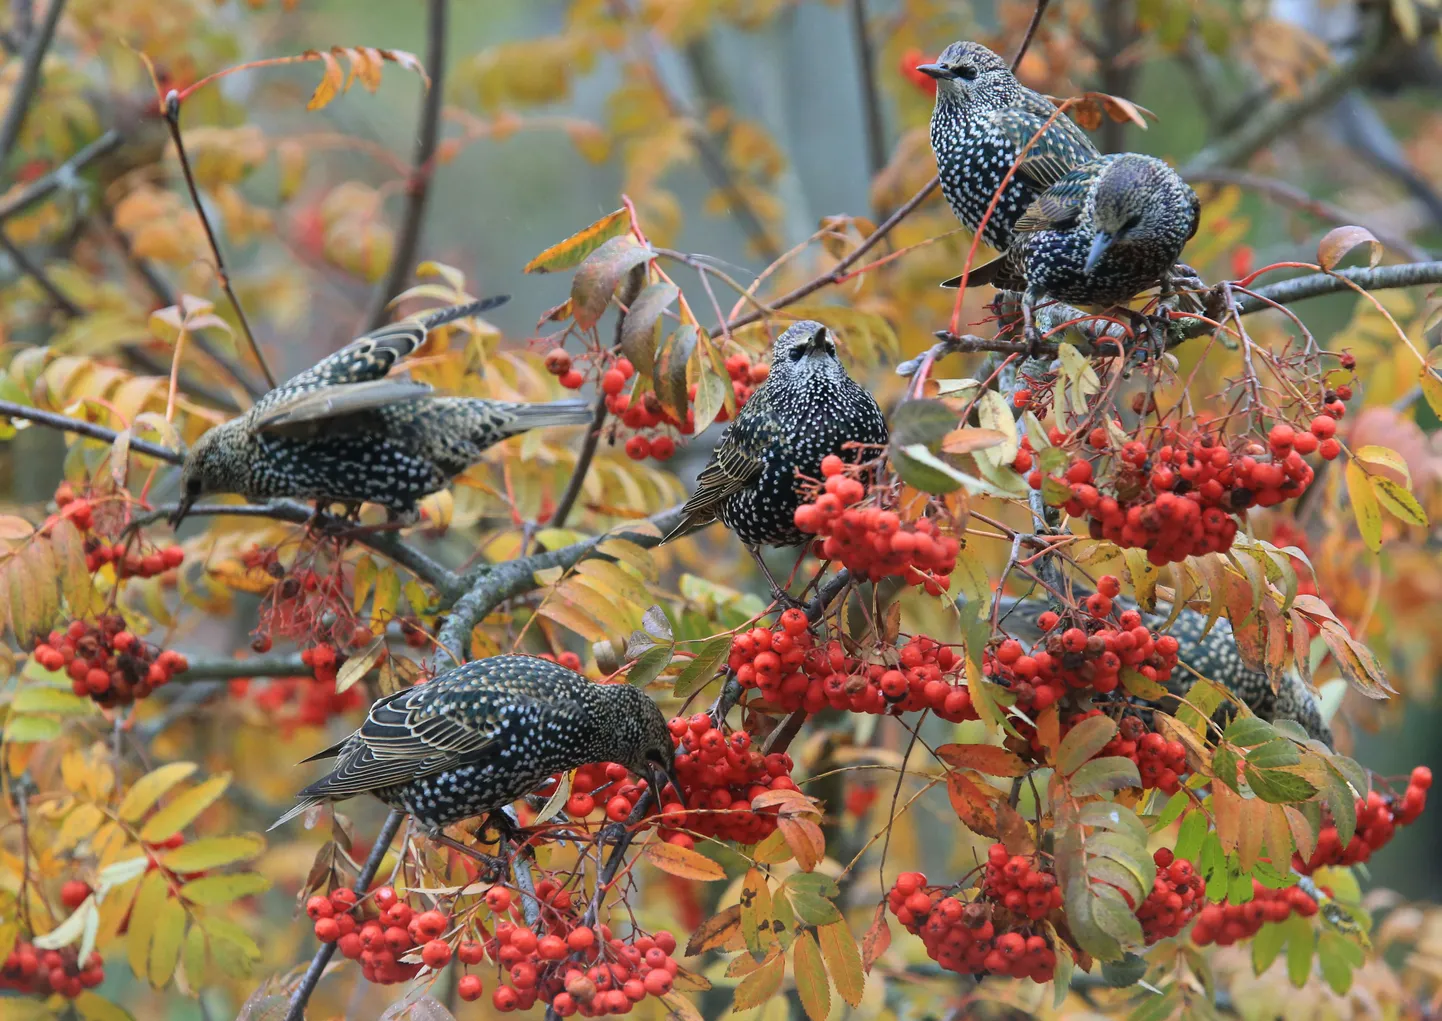
M 205 493 L 316 500 L 317 509 L 369 502 L 401 521 L 492 444 L 531 428 L 588 423 L 585 401 L 433 397 L 427 384 L 388 375 L 430 330 L 503 301 L 483 299 L 382 326 L 209 430 L 185 459 L 172 523 Z

